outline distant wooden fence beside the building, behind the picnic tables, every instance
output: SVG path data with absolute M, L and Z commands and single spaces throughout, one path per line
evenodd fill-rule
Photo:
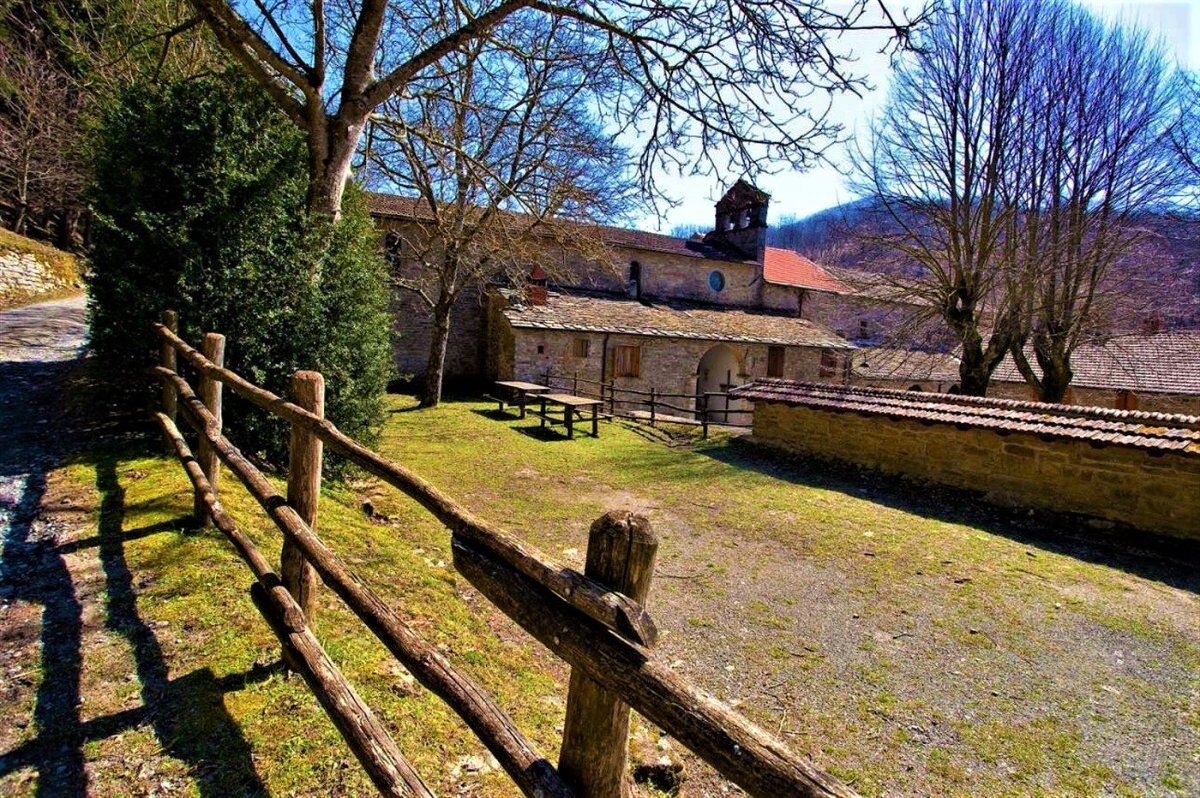
M 701 391 L 697 394 L 671 394 L 652 388 L 648 391 L 640 391 L 634 388 L 617 388 L 616 380 L 599 380 L 574 374 L 556 374 L 547 371 L 542 374 L 542 382 L 550 388 L 570 390 L 576 396 L 589 396 L 605 402 L 610 418 L 626 418 L 636 421 L 649 421 L 655 426 L 659 414 L 664 410 L 671 414 L 679 414 L 679 418 L 692 416 L 692 420 L 701 425 L 703 434 L 708 437 L 709 425 L 716 424 L 726 427 L 750 427 L 754 410 L 731 410 L 730 402 L 738 401 L 730 396 L 728 391 Z M 724 407 L 720 402 L 724 400 Z M 684 404 L 679 404 L 684 402 Z M 688 406 L 686 402 L 692 402 Z M 634 415 L 626 407 L 644 407 L 646 415 Z

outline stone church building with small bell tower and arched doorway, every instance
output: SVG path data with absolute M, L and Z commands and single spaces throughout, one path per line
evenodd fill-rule
M 716 203 L 707 234 L 682 239 L 589 227 L 607 263 L 572 260 L 548 281 L 490 286 L 456 308 L 448 379 L 541 380 L 578 374 L 618 389 L 724 391 L 755 377 L 839 379 L 853 347 L 811 318 L 814 298 L 846 293 L 828 271 L 766 246 L 769 196 L 739 180 Z M 372 214 L 392 240 L 410 235 L 416 206 L 374 194 Z M 412 268 L 402 257 L 396 268 Z M 397 298 L 396 364 L 425 368 L 430 317 Z M 692 407 L 691 400 L 677 400 Z M 731 409 L 737 409 L 733 407 Z

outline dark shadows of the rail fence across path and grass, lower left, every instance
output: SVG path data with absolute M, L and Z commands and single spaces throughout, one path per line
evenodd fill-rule
M 0 406 L 7 414 L 0 425 L 0 595 L 41 607 L 38 625 L 5 634 L 6 646 L 40 649 L 41 679 L 32 709 L 37 734 L 0 752 L 0 778 L 35 769 L 37 796 L 84 796 L 89 791 L 84 745 L 150 724 L 162 749 L 187 764 L 202 796 L 263 794 L 250 746 L 226 710 L 224 694 L 274 671 L 216 678 L 200 668 L 170 678 L 162 647 L 138 612 L 126 546 L 179 529 L 186 520 L 124 528 L 125 490 L 118 480 L 120 455 L 114 444 L 127 439 L 130 426 L 120 408 L 95 401 L 95 385 L 84 385 L 86 379 L 78 359 L 0 362 Z M 88 414 L 65 412 L 62 398 L 68 395 Z M 98 527 L 94 536 L 60 545 L 65 529 L 53 515 L 42 515 L 41 504 L 47 475 L 68 462 L 72 448 L 98 452 L 91 458 L 76 456 L 76 462 L 96 468 Z M 132 649 L 142 702 L 84 721 L 84 605 L 65 558 L 92 547 L 103 570 L 107 625 Z

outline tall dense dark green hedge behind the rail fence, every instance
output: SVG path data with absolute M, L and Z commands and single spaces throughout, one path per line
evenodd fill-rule
M 226 335 L 226 362 L 286 392 L 298 368 L 325 374 L 326 413 L 370 439 L 391 368 L 386 266 L 361 193 L 341 221 L 305 215 L 300 131 L 235 72 L 130 90 L 94 137 L 91 346 L 139 374 L 162 310 L 185 340 Z M 272 462 L 284 425 L 229 400 L 229 437 Z

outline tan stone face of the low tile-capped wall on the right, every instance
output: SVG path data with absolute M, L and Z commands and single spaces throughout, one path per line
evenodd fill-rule
M 1182 416 L 1178 416 L 1182 418 Z M 1159 451 L 758 401 L 755 438 L 890 474 L 1200 540 L 1200 445 Z

